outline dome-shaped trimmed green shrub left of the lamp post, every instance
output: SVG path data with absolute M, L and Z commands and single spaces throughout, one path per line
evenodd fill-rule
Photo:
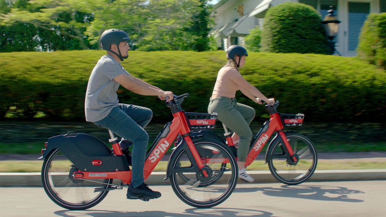
M 294 2 L 269 8 L 264 16 L 261 51 L 330 54 L 326 31 L 317 10 Z

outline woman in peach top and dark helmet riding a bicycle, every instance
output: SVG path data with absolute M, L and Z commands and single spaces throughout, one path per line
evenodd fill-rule
M 238 45 L 233 45 L 227 51 L 227 63 L 218 71 L 217 80 L 213 88 L 212 97 L 208 105 L 209 113 L 217 113 L 218 120 L 234 132 L 232 140 L 237 149 L 237 165 L 239 177 L 252 182 L 254 179 L 246 173 L 245 160 L 252 140 L 252 131 L 249 127 L 255 117 L 252 107 L 237 103 L 235 93 L 240 90 L 245 96 L 259 103 L 260 99 L 269 104 L 274 99 L 268 99 L 257 88 L 246 81 L 239 72 L 245 64 L 247 51 Z

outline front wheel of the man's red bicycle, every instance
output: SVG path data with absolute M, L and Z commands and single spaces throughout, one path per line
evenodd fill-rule
M 237 164 L 233 154 L 221 144 L 200 140 L 194 145 L 208 177 L 203 177 L 199 171 L 181 170 L 171 175 L 170 183 L 174 193 L 186 204 L 197 208 L 213 207 L 233 192 L 237 183 Z M 173 168 L 183 167 L 192 167 L 185 150 L 181 150 L 173 162 Z

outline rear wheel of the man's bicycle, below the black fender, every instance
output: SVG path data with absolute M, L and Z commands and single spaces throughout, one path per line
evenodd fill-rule
M 108 191 L 94 192 L 109 187 L 112 179 L 92 179 L 100 183 L 77 180 L 71 175 L 78 169 L 61 153 L 54 149 L 44 159 L 42 166 L 42 184 L 48 197 L 59 206 L 70 210 L 89 209 L 100 203 Z M 103 183 L 103 184 L 102 184 Z

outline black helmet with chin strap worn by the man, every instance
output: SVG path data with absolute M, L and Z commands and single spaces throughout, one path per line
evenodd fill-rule
M 100 44 L 102 45 L 102 49 L 117 55 L 121 61 L 123 61 L 123 58 L 122 54 L 120 53 L 120 49 L 118 48 L 119 54 L 117 54 L 110 50 L 110 47 L 112 44 L 116 44 L 117 47 L 119 47 L 120 42 L 128 42 L 129 40 L 130 38 L 127 33 L 120 29 L 108 29 L 100 36 Z

